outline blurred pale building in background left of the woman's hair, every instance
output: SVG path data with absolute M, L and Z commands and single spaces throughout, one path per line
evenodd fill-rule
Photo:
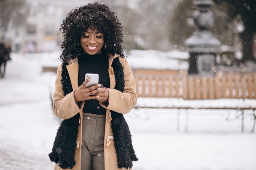
M 59 27 L 66 14 L 89 0 L 27 0 L 28 16 L 24 26 L 11 32 L 12 49 L 22 53 L 41 53 L 60 49 Z

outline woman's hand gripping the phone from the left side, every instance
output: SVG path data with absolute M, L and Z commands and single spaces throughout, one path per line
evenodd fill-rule
M 79 88 L 77 88 L 74 91 L 74 97 L 76 102 L 81 102 L 85 100 L 90 100 L 90 99 L 99 99 L 101 96 L 98 95 L 99 91 L 101 91 L 101 84 L 96 84 L 94 86 L 86 88 L 85 85 L 90 82 L 90 78 L 86 79 Z M 107 90 L 108 91 L 108 90 Z

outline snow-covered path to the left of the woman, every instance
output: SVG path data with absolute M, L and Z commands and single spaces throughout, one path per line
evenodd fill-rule
M 40 62 L 13 57 L 0 79 L 0 170 L 50 170 L 49 146 L 58 128 L 49 97 L 54 74 Z

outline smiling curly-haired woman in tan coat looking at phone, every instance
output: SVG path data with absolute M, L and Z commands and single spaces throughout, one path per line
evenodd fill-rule
M 123 114 L 137 102 L 136 83 L 117 16 L 106 4 L 87 4 L 70 11 L 60 30 L 53 102 L 64 120 L 49 154 L 55 169 L 130 169 L 138 159 Z M 98 73 L 99 84 L 86 88 L 85 73 Z

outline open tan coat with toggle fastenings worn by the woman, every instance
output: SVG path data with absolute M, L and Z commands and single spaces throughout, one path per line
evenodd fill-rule
M 119 57 L 120 63 L 124 67 L 124 80 L 125 88 L 124 92 L 121 93 L 118 90 L 115 90 L 115 75 L 113 68 L 111 66 L 114 58 Z M 77 147 L 75 151 L 75 166 L 72 170 L 81 170 L 81 144 L 82 144 L 82 121 L 83 121 L 83 110 L 79 108 L 74 99 L 74 90 L 79 87 L 78 85 L 78 70 L 79 64 L 77 60 L 72 60 L 72 62 L 67 65 L 67 71 L 70 76 L 73 92 L 64 96 L 61 83 L 61 65 L 58 66 L 56 82 L 55 82 L 55 92 L 53 96 L 54 103 L 54 113 L 57 117 L 61 119 L 69 119 L 74 117 L 77 113 L 80 113 L 80 124 L 77 137 Z M 100 105 L 103 108 L 106 108 L 106 125 L 105 125 L 105 138 L 104 138 L 104 163 L 105 170 L 119 170 L 117 167 L 117 155 L 114 146 L 114 140 L 112 138 L 112 129 L 111 121 L 109 117 L 111 116 L 110 110 L 113 110 L 117 113 L 129 113 L 132 108 L 134 108 L 137 102 L 136 95 L 136 82 L 133 77 L 130 66 L 125 58 L 115 55 L 109 59 L 109 68 L 108 68 L 109 78 L 110 78 L 110 88 L 109 97 L 108 97 L 108 106 L 103 105 L 100 102 Z M 82 103 L 81 108 L 83 108 L 85 102 Z M 55 170 L 61 170 L 61 168 L 56 164 Z

